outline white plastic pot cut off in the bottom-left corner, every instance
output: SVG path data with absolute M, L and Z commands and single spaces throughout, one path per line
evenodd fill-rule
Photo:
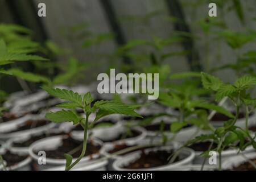
M 22 152 L 15 152 L 14 154 L 27 155 L 27 154 L 23 154 Z M 32 162 L 32 158 L 30 156 L 28 156 L 26 159 L 15 164 L 14 166 L 6 167 L 6 170 L 7 171 L 30 171 L 31 170 L 31 166 L 30 166 L 31 162 Z M 0 166 L 0 171 L 1 170 L 4 170 L 3 166 Z

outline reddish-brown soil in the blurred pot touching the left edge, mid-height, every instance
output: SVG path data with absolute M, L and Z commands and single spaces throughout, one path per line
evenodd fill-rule
M 30 130 L 30 129 L 34 129 L 40 126 L 45 126 L 49 123 L 49 121 L 47 120 L 28 120 L 24 123 L 22 123 L 22 125 L 18 125 L 18 129 L 14 129 L 14 130 L 10 130 L 10 131 L 4 131 L 3 133 L 13 133 L 16 131 L 23 131 L 23 130 Z

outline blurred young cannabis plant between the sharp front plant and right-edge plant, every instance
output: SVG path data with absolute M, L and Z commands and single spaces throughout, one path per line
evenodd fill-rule
M 171 75 L 171 79 L 200 77 L 200 73 L 186 72 Z M 176 121 L 172 122 L 171 132 L 177 133 L 180 129 L 187 125 L 195 125 L 199 129 L 214 130 L 210 125 L 207 110 L 217 111 L 233 117 L 232 113 L 221 106 L 208 103 L 204 96 L 209 92 L 207 89 L 201 88 L 200 82 L 197 80 L 187 79 L 181 84 L 170 84 L 167 86 L 167 92 L 159 94 L 160 104 L 175 108 L 179 111 Z M 196 117 L 195 117 L 196 116 Z

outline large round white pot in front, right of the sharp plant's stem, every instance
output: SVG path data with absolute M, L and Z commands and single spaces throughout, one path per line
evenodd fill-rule
M 154 148 L 147 148 L 144 150 L 144 152 L 147 154 L 149 151 L 157 151 L 157 150 L 170 150 L 174 148 L 173 146 L 162 146 L 162 147 L 154 147 Z M 140 158 L 142 152 L 141 151 L 135 151 L 131 152 L 130 154 L 127 154 L 123 156 L 121 159 L 115 160 L 113 163 L 113 169 L 116 171 L 133 171 L 133 169 L 126 169 L 123 168 L 123 166 L 126 166 L 130 162 L 133 162 L 134 160 L 137 160 Z M 181 159 L 178 162 L 167 164 L 165 166 L 159 166 L 159 167 L 152 167 L 152 168 L 146 168 L 146 169 L 136 169 L 138 171 L 169 171 L 174 170 L 176 167 L 192 164 L 192 160 L 195 158 L 195 152 L 191 150 L 190 148 L 183 148 L 183 150 L 180 151 L 179 156 L 182 156 L 183 159 Z

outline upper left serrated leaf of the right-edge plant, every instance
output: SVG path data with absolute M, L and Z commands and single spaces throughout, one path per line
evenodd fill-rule
M 218 90 L 223 84 L 223 82 L 219 78 L 204 72 L 201 72 L 201 80 L 203 82 L 204 88 L 212 89 L 214 91 Z

